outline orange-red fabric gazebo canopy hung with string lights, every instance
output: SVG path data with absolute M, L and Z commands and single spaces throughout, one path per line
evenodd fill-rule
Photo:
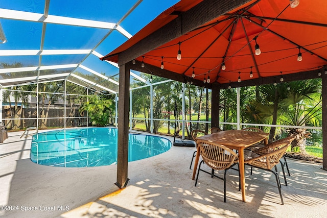
M 137 64 L 145 64 L 144 70 L 136 67 L 138 70 L 178 80 L 161 73 L 165 69 L 181 75 L 179 81 L 197 81 L 198 85 L 199 81 L 202 85 L 204 81 L 218 82 L 221 88 L 268 77 L 271 83 L 283 82 L 285 75 L 297 72 L 314 72 L 311 78 L 324 73 L 327 64 L 326 1 L 301 0 L 294 8 L 290 3 L 299 1 L 243 1 L 247 3 L 183 32 L 188 28 L 183 25 L 190 22 L 187 13 L 204 2 L 210 1 L 180 1 L 102 60 L 124 64 L 135 59 Z M 159 42 L 151 40 L 151 35 L 178 18 L 182 30 L 179 36 L 163 44 L 159 39 Z M 149 45 L 150 49 L 139 48 L 134 57 L 130 56 L 131 60 L 119 57 L 133 47 L 136 49 L 137 44 Z M 177 58 L 179 52 L 181 58 Z

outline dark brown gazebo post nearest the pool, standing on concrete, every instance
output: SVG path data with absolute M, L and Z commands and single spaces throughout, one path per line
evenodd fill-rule
M 118 101 L 118 156 L 117 182 L 119 188 L 128 183 L 128 112 L 129 112 L 129 68 L 125 64 L 119 69 L 119 101 Z

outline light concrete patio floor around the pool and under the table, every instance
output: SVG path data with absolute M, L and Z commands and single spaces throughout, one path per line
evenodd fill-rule
M 0 216 L 4 217 L 326 217 L 327 172 L 320 164 L 288 159 L 291 176 L 281 205 L 275 178 L 246 170 L 246 203 L 241 201 L 238 176 L 223 181 L 200 173 L 197 187 L 190 162 L 195 148 L 172 147 L 168 152 L 128 165 L 129 183 L 119 190 L 116 165 L 63 168 L 30 159 L 31 137 L 9 132 L 0 144 Z M 171 137 L 168 137 L 172 139 Z M 278 170 L 281 171 L 278 165 Z M 222 175 L 222 173 L 220 173 Z M 14 206 L 14 207 L 13 207 Z M 10 210 L 9 210 L 10 209 Z M 14 210 L 15 209 L 15 210 Z M 34 209 L 34 210 L 33 210 Z

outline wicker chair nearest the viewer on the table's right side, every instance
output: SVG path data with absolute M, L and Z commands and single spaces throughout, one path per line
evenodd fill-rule
M 284 205 L 282 191 L 281 191 L 281 182 L 278 177 L 276 164 L 279 163 L 279 160 L 283 157 L 286 152 L 286 149 L 290 146 L 290 142 L 287 140 L 276 141 L 268 144 L 263 148 L 259 153 L 255 153 L 256 155 L 252 155 L 252 157 L 246 157 L 244 163 L 246 165 L 252 167 L 264 169 L 265 171 L 270 171 L 275 175 L 276 183 L 279 191 L 279 196 L 281 197 L 282 204 Z M 272 168 L 275 168 L 275 172 L 272 171 Z M 285 173 L 284 173 L 285 178 Z M 286 181 L 286 180 L 285 180 Z

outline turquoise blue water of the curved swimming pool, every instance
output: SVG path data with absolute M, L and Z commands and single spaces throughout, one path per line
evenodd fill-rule
M 61 167 L 116 164 L 116 128 L 78 128 L 38 133 L 33 136 L 33 162 Z M 129 134 L 128 161 L 141 160 L 168 151 L 171 141 L 153 135 Z

